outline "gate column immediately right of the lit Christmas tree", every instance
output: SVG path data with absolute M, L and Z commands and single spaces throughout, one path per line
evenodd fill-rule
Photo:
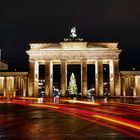
M 87 61 L 82 60 L 81 64 L 81 93 L 84 97 L 87 96 Z

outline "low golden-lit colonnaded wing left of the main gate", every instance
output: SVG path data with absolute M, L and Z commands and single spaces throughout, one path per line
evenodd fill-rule
M 23 96 L 28 93 L 28 72 L 0 72 L 0 96 Z

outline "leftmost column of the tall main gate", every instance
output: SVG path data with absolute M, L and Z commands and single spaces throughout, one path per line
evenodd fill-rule
M 31 97 L 34 95 L 34 61 L 29 61 L 29 82 L 28 82 L 28 96 Z

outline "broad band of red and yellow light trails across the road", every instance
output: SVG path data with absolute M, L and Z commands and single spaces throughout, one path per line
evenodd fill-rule
M 63 100 L 65 102 L 68 102 L 68 104 L 54 104 L 51 102 L 37 103 L 35 101 L 36 99 L 11 100 L 9 101 L 9 103 L 46 108 L 53 111 L 65 113 L 70 116 L 84 119 L 86 121 L 96 123 L 140 139 L 140 122 L 134 121 L 129 117 L 130 115 L 133 116 L 135 111 L 134 109 L 137 109 L 138 113 L 140 112 L 139 105 L 129 105 L 126 103 L 108 103 L 105 105 L 77 100 Z M 125 108 L 123 108 L 124 106 Z M 121 111 L 118 111 L 118 109 L 121 109 Z

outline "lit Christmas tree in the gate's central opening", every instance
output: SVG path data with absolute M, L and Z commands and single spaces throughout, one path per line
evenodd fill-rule
M 68 86 L 68 91 L 70 95 L 76 95 L 77 94 L 77 84 L 76 84 L 76 79 L 74 76 L 74 73 L 71 74 L 70 76 L 70 81 L 69 81 L 69 86 Z

